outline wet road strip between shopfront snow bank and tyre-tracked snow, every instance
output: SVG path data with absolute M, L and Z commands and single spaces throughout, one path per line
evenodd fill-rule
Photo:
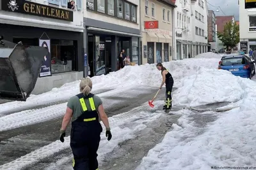
M 141 92 L 143 92 L 143 90 L 145 89 L 141 87 Z M 115 94 L 111 95 L 109 98 L 102 98 L 102 101 L 105 106 L 110 106 L 114 100 L 118 99 L 118 104 L 106 108 L 108 117 L 111 117 L 129 111 L 132 108 L 147 102 L 154 97 L 156 90 L 157 89 L 148 89 L 147 92 L 141 94 L 138 94 L 137 92 L 132 99 L 129 97 L 125 98 L 125 93 Z M 132 91 L 130 93 L 132 93 Z M 159 97 L 163 96 L 164 90 L 161 90 L 157 98 L 159 99 Z M 63 117 L 54 118 L 47 122 L 0 132 L 0 166 L 56 141 L 59 138 L 59 129 L 61 127 L 62 118 Z M 67 129 L 67 135 L 69 134 L 70 126 L 68 126 Z

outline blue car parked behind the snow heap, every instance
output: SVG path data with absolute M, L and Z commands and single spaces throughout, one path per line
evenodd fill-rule
M 252 78 L 255 75 L 255 61 L 242 54 L 223 56 L 218 69 L 230 71 L 235 76 Z

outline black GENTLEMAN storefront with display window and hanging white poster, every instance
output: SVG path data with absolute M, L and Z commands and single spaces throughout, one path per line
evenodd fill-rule
M 46 23 L 54 25 L 53 23 L 59 20 L 62 21 L 60 25 L 70 26 L 73 22 L 74 11 L 30 1 L 19 1 L 19 6 L 22 8 L 14 8 L 12 6 L 13 9 L 11 10 L 8 6 L 3 6 L 2 2 L 1 10 L 4 10 L 4 14 L 10 15 L 13 24 L 0 24 L 0 36 L 2 37 L 1 39 L 6 41 L 22 42 L 25 46 L 44 46 L 49 50 L 50 55 L 45 57 L 33 94 L 47 92 L 54 87 L 60 87 L 64 83 L 83 78 L 83 29 L 65 31 L 44 28 Z M 51 12 L 46 13 L 44 9 Z M 13 13 L 26 13 L 28 15 L 15 17 L 16 15 L 12 16 Z M 38 18 L 38 15 L 44 17 L 44 19 L 46 18 L 46 21 L 38 20 L 41 21 L 41 27 L 35 26 L 37 19 L 27 21 L 29 17 L 35 16 L 35 18 Z M 1 19 L 4 16 L 1 15 Z M 17 19 L 17 21 L 13 18 Z M 54 20 L 47 21 L 47 18 L 54 18 Z M 63 20 L 67 24 L 64 24 Z M 10 20 L 6 19 L 6 23 L 10 23 Z

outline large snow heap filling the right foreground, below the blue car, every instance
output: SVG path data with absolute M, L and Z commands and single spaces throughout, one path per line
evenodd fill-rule
M 138 170 L 256 168 L 255 86 L 255 81 L 213 69 L 201 68 L 195 76 L 186 78 L 175 92 L 175 98 L 180 100 L 176 104 L 198 106 L 227 101 L 239 108 L 219 113 L 220 118 L 196 137 L 189 136 L 196 129 L 195 122 L 189 119 L 191 113 L 178 111 L 175 114 L 182 114 L 179 123 L 173 124 L 173 130 L 148 152 Z M 186 137 L 189 139 L 183 141 Z

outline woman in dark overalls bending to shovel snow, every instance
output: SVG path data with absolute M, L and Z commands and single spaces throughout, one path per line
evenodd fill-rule
M 162 89 L 164 83 L 166 86 L 166 93 L 165 93 L 166 101 L 165 101 L 163 110 L 169 110 L 172 108 L 172 87 L 174 82 L 172 78 L 172 74 L 169 73 L 169 71 L 166 69 L 166 67 L 163 66 L 161 62 L 157 63 L 156 67 L 159 71 L 161 70 L 161 75 L 163 77 L 163 81 L 159 89 Z

